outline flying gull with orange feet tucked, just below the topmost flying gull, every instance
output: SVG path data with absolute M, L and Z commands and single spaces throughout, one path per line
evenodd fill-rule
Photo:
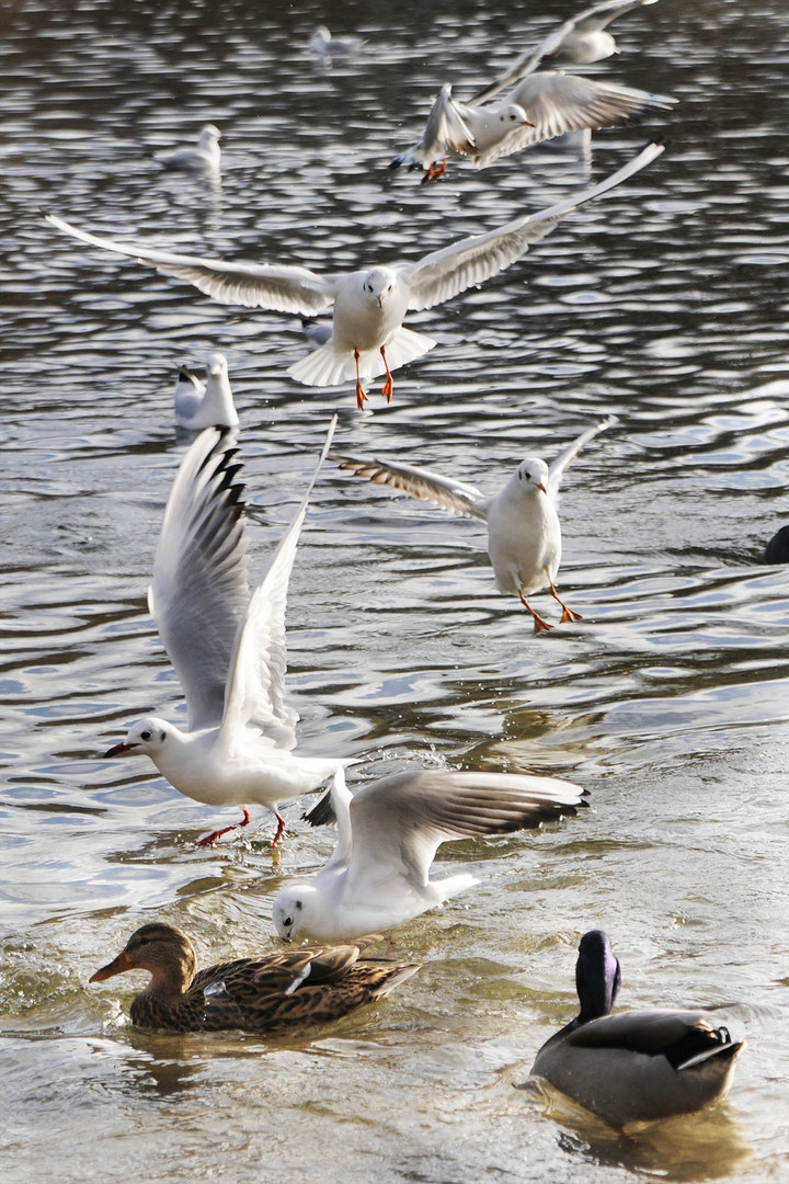
M 422 168 L 422 181 L 432 181 L 446 172 L 450 155 L 471 156 L 476 168 L 485 168 L 499 156 L 511 156 L 567 131 L 633 123 L 653 111 L 668 110 L 677 102 L 667 95 L 561 70 L 530 75 L 507 102 L 490 107 L 460 103 L 446 85 L 433 104 L 421 139 L 395 156 L 392 165 Z

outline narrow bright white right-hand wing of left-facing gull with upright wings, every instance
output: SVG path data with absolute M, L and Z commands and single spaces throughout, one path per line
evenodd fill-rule
M 235 637 L 227 676 L 222 731 L 239 727 L 258 728 L 277 748 L 283 749 L 296 746 L 295 729 L 298 721 L 296 712 L 285 707 L 287 585 L 310 494 L 329 451 L 336 425 L 335 416 L 296 517 L 277 547 L 269 571 L 252 594 Z

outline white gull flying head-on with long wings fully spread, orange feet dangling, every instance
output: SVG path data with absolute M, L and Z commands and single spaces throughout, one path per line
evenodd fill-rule
M 590 189 L 538 213 L 522 214 L 485 234 L 432 251 L 415 263 L 350 272 L 318 275 L 292 264 L 225 262 L 175 255 L 144 243 L 101 238 L 54 214 L 47 214 L 46 220 L 82 243 L 130 256 L 164 275 L 186 279 L 208 296 L 229 304 L 302 316 L 313 316 L 334 304 L 331 337 L 291 366 L 289 373 L 308 386 L 338 386 L 355 378 L 356 404 L 361 410 L 367 399 L 362 379 L 376 378 L 386 372 L 383 394 L 390 400 L 392 371 L 435 346 L 431 337 L 403 328 L 403 317 L 409 309 L 442 304 L 504 271 L 574 210 L 627 181 L 662 150 L 662 144 L 647 144 L 638 156 Z

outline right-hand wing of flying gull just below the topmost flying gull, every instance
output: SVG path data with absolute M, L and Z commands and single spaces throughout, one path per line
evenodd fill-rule
M 480 168 L 499 156 L 510 156 L 565 131 L 632 123 L 652 111 L 667 111 L 678 102 L 667 95 L 652 95 L 646 90 L 557 70 L 531 75 L 513 90 L 510 99 L 523 107 L 533 127 L 516 128 L 487 152 L 480 153 L 474 161 Z

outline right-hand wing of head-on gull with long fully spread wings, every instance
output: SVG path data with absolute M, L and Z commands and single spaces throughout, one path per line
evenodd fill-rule
M 408 307 L 432 308 L 504 271 L 525 255 L 532 243 L 549 234 L 562 218 L 621 185 L 649 165 L 662 150 L 662 144 L 647 144 L 616 173 L 576 197 L 565 198 L 538 213 L 523 214 L 486 234 L 464 238 L 426 255 L 418 263 L 401 265 L 397 270 L 410 287 Z

